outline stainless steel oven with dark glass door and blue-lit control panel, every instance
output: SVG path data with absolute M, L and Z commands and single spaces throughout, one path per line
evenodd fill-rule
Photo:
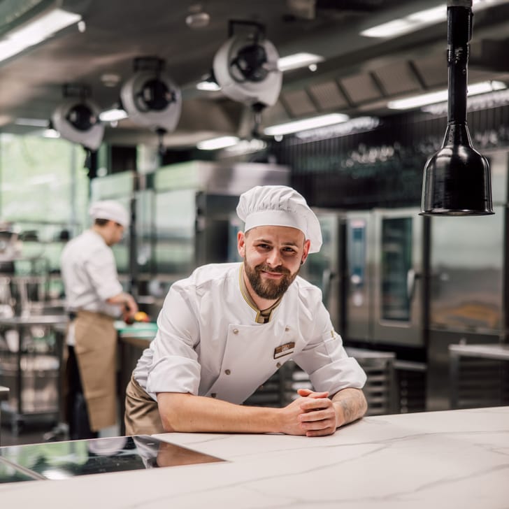
M 416 208 L 347 213 L 348 340 L 423 345 L 422 235 Z

